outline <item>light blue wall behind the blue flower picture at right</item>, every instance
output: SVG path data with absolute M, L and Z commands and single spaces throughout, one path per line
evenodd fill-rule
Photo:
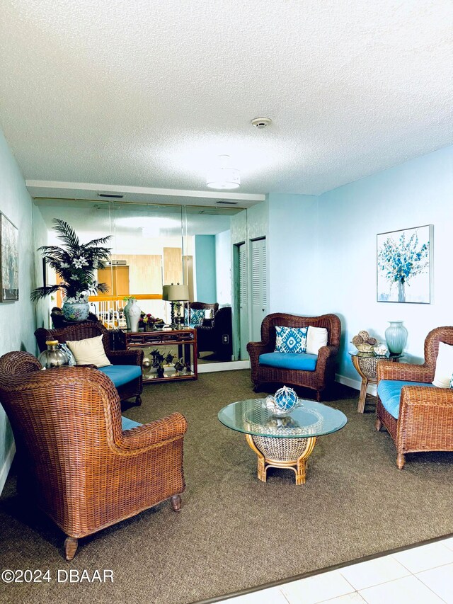
M 390 320 L 408 329 L 406 359 L 423 358 L 430 329 L 453 324 L 453 147 L 323 193 L 269 195 L 271 312 L 334 312 L 343 327 L 338 373 L 357 380 L 348 351 L 367 329 L 384 341 Z M 376 300 L 376 235 L 434 224 L 434 300 Z

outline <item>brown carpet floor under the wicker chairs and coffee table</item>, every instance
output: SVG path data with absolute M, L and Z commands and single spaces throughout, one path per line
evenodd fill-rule
M 0 583 L 1 603 L 193 603 L 453 532 L 453 454 L 408 455 L 398 470 L 390 436 L 374 430 L 372 410 L 357 414 L 357 392 L 340 384 L 328 404 L 348 424 L 316 443 L 306 484 L 295 486 L 291 470 L 258 481 L 243 435 L 217 420 L 222 406 L 254 396 L 248 370 L 147 385 L 126 416 L 188 419 L 182 511 L 162 503 L 86 537 L 71 563 L 62 533 L 21 506 L 10 477 L 0 568 L 50 569 L 52 580 Z M 58 569 L 112 569 L 114 581 L 57 583 Z

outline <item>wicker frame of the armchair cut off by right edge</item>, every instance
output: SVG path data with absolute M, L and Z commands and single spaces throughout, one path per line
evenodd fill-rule
M 437 327 L 425 339 L 425 363 L 414 365 L 379 360 L 377 385 L 381 380 L 403 380 L 429 384 L 434 380 L 439 342 L 453 345 L 453 326 Z M 379 395 L 376 429 L 389 431 L 396 445 L 396 465 L 402 469 L 406 453 L 453 451 L 453 389 L 403 386 L 398 419 L 384 408 Z

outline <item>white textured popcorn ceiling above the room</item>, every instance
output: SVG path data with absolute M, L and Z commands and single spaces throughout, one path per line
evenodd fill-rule
M 3 0 L 28 179 L 317 194 L 453 140 L 451 0 Z M 273 119 L 257 130 L 250 120 Z

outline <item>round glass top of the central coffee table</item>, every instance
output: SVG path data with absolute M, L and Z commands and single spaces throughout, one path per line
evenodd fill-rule
M 286 417 L 265 409 L 265 399 L 230 403 L 220 409 L 218 418 L 231 430 L 254 436 L 310 438 L 331 434 L 343 428 L 348 418 L 342 411 L 315 401 L 299 399 L 300 406 Z

